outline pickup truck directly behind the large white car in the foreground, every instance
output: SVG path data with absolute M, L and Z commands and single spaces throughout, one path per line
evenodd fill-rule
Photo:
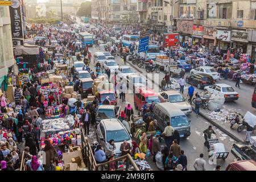
M 118 118 L 121 111 L 121 106 L 115 105 L 100 105 L 96 112 L 96 123 L 100 123 L 102 119 Z

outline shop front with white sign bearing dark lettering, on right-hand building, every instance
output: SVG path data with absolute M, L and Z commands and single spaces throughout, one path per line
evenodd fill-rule
M 230 34 L 231 34 L 231 32 L 229 30 L 217 30 L 217 35 L 216 35 L 217 44 L 216 44 L 216 46 L 218 47 L 218 49 L 220 49 L 221 53 L 227 53 L 228 52 L 228 48 L 231 45 Z

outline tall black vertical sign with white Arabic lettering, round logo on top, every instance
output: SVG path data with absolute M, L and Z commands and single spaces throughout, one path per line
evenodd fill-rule
M 22 14 L 19 0 L 13 1 L 13 6 L 9 7 L 11 16 L 11 35 L 14 38 L 23 38 Z

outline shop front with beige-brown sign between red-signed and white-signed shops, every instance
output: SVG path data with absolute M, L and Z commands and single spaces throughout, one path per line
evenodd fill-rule
M 216 34 L 217 30 L 214 27 L 204 27 L 203 38 L 204 46 L 208 47 L 210 51 L 213 51 L 216 46 Z

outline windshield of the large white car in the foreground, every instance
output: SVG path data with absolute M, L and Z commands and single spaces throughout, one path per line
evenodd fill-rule
M 129 141 L 130 136 L 127 134 L 125 129 L 106 131 L 106 141 L 113 139 L 115 142 L 123 142 L 125 140 Z

